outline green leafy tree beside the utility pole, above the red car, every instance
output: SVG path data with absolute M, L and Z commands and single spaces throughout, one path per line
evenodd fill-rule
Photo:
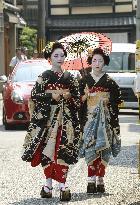
M 28 48 L 28 57 L 32 56 L 33 50 L 37 49 L 37 30 L 24 27 L 19 37 L 21 47 Z

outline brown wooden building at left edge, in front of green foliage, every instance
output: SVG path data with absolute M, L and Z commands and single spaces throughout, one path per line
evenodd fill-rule
M 18 32 L 25 25 L 26 22 L 20 16 L 20 8 L 16 6 L 16 0 L 0 0 L 0 74 L 9 74 L 9 62 L 18 46 Z

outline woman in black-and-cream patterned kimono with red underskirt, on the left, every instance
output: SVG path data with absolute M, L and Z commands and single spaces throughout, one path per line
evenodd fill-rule
M 52 69 L 42 73 L 33 87 L 34 111 L 24 142 L 22 159 L 35 167 L 42 165 L 46 184 L 41 197 L 52 197 L 52 179 L 59 182 L 60 200 L 71 199 L 65 186 L 70 164 L 78 161 L 80 124 L 78 82 L 61 70 L 66 52 L 60 43 L 44 51 L 51 59 Z

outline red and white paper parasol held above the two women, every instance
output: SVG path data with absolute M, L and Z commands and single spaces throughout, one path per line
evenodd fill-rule
M 112 41 L 102 33 L 81 32 L 59 40 L 65 47 L 68 56 L 63 64 L 64 69 L 80 70 L 88 67 L 87 57 L 95 48 L 102 48 L 106 55 L 112 50 Z

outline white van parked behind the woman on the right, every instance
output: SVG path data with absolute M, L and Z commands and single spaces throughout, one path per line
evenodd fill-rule
M 121 108 L 138 109 L 135 95 L 135 51 L 136 44 L 112 43 L 109 66 L 106 72 L 120 86 L 123 96 Z

